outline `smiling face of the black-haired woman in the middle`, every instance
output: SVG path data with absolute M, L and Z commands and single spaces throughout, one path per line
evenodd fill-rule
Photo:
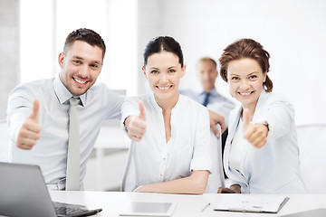
M 163 51 L 149 56 L 143 71 L 149 80 L 149 87 L 153 90 L 158 105 L 167 102 L 177 103 L 177 89 L 185 70 L 186 66 L 181 68 L 178 57 L 173 52 Z

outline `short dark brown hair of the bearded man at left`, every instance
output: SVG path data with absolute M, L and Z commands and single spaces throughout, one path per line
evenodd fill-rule
M 64 42 L 63 52 L 67 52 L 72 43 L 76 41 L 87 42 L 91 46 L 98 46 L 102 50 L 102 60 L 104 59 L 106 47 L 99 33 L 86 28 L 73 31 L 67 36 Z

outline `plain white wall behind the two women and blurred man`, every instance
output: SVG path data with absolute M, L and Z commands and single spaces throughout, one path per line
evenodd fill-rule
M 296 108 L 297 124 L 326 122 L 323 83 L 326 70 L 326 2 L 322 0 L 139 0 L 139 69 L 142 52 L 158 35 L 173 36 L 185 55 L 187 74 L 181 88 L 199 88 L 195 65 L 202 56 L 218 60 L 237 39 L 261 42 L 272 58 L 274 92 Z M 139 71 L 140 72 L 140 71 Z M 139 73 L 139 93 L 145 91 Z M 217 80 L 225 95 L 225 81 Z

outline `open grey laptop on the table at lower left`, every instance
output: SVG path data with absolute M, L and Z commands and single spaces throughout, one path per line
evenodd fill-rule
M 40 167 L 0 162 L 0 215 L 7 216 L 89 216 L 101 209 L 52 202 Z

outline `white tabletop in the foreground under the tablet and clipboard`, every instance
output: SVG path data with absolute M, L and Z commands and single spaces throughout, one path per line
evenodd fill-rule
M 192 216 L 279 216 L 292 212 L 302 212 L 316 208 L 326 208 L 326 194 L 289 194 L 290 200 L 277 214 L 249 212 L 215 212 L 214 203 L 236 194 L 206 193 L 203 195 L 166 194 L 166 193 L 120 193 L 120 192 L 50 192 L 53 201 L 79 203 L 90 208 L 102 208 L 96 216 L 119 216 L 117 212 L 125 203 L 135 202 L 175 202 L 177 209 L 173 217 Z M 211 203 L 205 212 L 203 207 Z

